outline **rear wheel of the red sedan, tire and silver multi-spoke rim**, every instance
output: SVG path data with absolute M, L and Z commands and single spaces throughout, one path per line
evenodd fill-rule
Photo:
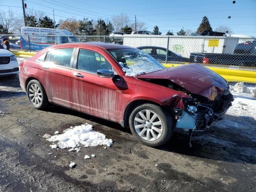
M 31 80 L 28 83 L 27 96 L 30 104 L 36 109 L 42 110 L 49 104 L 46 92 L 38 80 Z

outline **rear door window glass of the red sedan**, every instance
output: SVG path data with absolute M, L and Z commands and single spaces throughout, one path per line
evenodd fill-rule
M 46 61 L 56 65 L 70 67 L 70 61 L 74 48 L 55 49 L 47 53 Z

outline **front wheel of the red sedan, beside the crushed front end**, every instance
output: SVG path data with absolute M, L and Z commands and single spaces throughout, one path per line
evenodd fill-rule
M 141 114 L 144 114 L 144 117 Z M 151 147 L 161 146 L 167 142 L 173 132 L 170 114 L 154 104 L 136 107 L 130 114 L 129 125 L 134 137 Z

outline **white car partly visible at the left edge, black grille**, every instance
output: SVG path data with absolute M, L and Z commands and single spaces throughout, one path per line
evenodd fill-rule
M 0 76 L 16 76 L 18 73 L 19 64 L 16 56 L 0 45 Z

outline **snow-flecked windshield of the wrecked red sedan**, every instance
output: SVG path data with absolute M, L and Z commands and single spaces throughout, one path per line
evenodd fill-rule
M 126 76 L 144 74 L 165 68 L 149 54 L 138 49 L 112 49 L 108 52 L 116 58 Z

